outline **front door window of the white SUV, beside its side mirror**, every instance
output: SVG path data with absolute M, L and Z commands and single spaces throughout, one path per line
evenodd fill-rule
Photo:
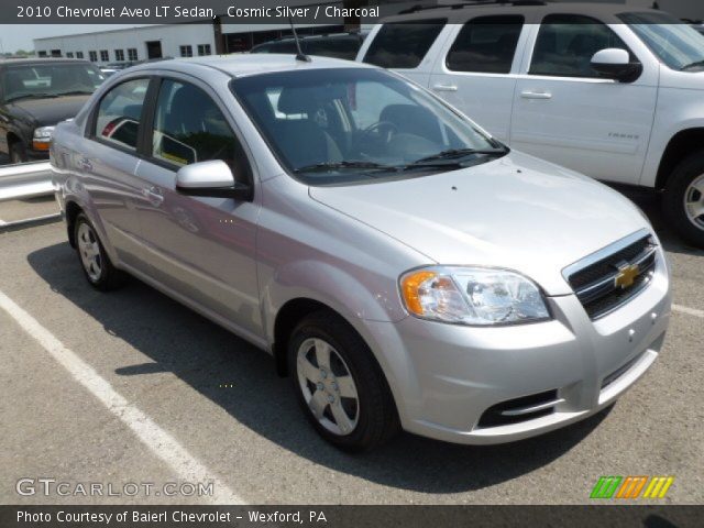
M 592 68 L 592 57 L 607 47 L 629 52 L 616 33 L 595 19 L 550 14 L 540 26 L 529 74 L 598 78 L 600 75 Z

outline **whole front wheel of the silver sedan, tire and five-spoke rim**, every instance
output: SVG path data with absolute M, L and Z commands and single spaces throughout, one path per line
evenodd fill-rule
M 351 452 L 389 440 L 399 420 L 384 374 L 362 338 L 340 317 L 319 311 L 288 345 L 294 391 L 316 430 Z

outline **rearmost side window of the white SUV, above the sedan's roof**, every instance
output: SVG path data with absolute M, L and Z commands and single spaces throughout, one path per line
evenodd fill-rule
M 444 28 L 447 20 L 384 24 L 364 56 L 364 62 L 383 68 L 416 68 Z

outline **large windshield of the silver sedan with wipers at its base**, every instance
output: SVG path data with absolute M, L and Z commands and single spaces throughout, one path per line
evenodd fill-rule
M 285 167 L 312 185 L 461 168 L 507 150 L 402 77 L 307 69 L 242 77 L 232 89 Z

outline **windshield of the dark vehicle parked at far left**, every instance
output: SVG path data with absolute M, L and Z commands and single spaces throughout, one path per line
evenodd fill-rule
M 2 73 L 6 102 L 19 99 L 92 94 L 105 80 L 91 64 L 22 64 L 8 66 Z

